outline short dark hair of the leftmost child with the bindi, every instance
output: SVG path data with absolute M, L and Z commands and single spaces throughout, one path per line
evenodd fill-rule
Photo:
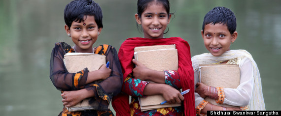
M 84 16 L 91 15 L 95 17 L 98 28 L 103 28 L 103 13 L 98 3 L 93 0 L 73 0 L 66 5 L 65 23 L 70 28 L 72 22 L 84 21 Z

